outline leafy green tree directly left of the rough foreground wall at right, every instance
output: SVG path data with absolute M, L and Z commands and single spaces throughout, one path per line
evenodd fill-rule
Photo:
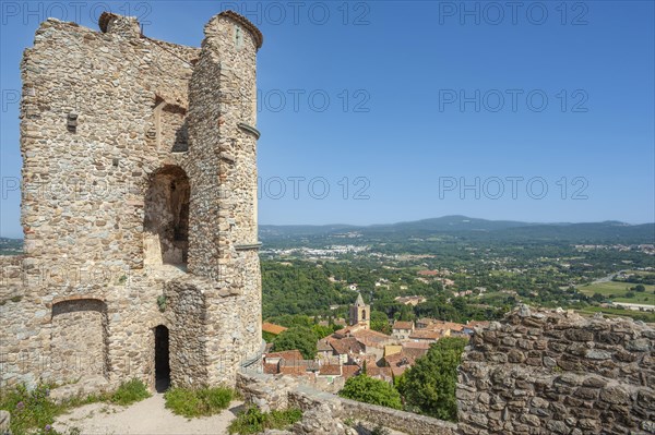
M 409 408 L 441 420 L 457 420 L 457 366 L 466 340 L 445 337 L 405 372 L 398 389 Z

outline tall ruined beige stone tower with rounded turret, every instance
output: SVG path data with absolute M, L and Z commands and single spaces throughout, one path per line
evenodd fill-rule
M 261 354 L 259 29 L 202 47 L 44 22 L 22 62 L 22 269 L 3 283 L 3 384 L 234 384 Z M 8 290 L 9 289 L 9 290 Z

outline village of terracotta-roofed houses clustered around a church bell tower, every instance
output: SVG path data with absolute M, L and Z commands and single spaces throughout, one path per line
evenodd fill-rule
M 361 294 L 349 307 L 349 318 L 334 321 L 343 326 L 317 342 L 317 355 L 305 359 L 298 349 L 274 351 L 267 343 L 263 355 L 266 374 L 294 376 L 302 384 L 327 391 L 340 391 L 353 376 L 366 374 L 389 384 L 403 375 L 416 361 L 426 355 L 430 346 L 444 337 L 468 339 L 476 326 L 488 326 L 489 322 L 469 321 L 466 324 L 419 318 L 416 322 L 395 321 L 386 335 L 371 329 L 371 307 Z M 327 321 L 321 321 L 327 326 Z M 264 322 L 262 331 L 277 336 L 286 327 Z

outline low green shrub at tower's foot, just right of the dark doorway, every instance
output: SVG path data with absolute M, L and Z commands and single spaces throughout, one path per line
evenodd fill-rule
M 164 394 L 166 408 L 187 418 L 213 415 L 226 409 L 234 398 L 229 388 L 170 388 Z

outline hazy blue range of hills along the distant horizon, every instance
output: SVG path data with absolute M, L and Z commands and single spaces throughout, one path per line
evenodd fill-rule
M 372 226 L 260 226 L 260 239 L 269 245 L 325 243 L 366 244 L 412 239 L 463 239 L 469 241 L 568 243 L 655 243 L 655 223 L 629 225 L 619 221 L 590 223 L 534 223 L 444 216 L 412 222 Z

